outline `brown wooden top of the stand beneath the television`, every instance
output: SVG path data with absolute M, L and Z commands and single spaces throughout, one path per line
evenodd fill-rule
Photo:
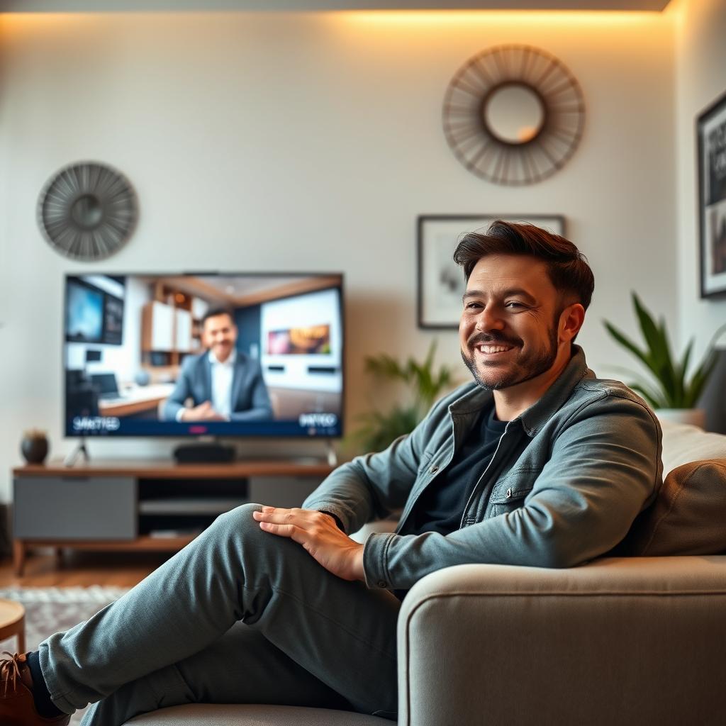
M 136 476 L 169 479 L 238 479 L 247 476 L 327 476 L 335 467 L 323 462 L 241 459 L 224 464 L 177 464 L 166 459 L 97 459 L 65 466 L 62 460 L 26 464 L 12 470 L 13 476 Z

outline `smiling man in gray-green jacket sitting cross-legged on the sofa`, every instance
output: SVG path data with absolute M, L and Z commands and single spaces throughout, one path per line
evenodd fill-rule
M 574 340 L 594 281 L 568 240 L 468 234 L 460 340 L 473 382 L 301 509 L 244 505 L 86 623 L 0 666 L 0 722 L 116 726 L 192 701 L 396 718 L 396 619 L 462 563 L 576 566 L 627 533 L 661 483 L 660 429 Z M 403 510 L 395 533 L 348 533 Z

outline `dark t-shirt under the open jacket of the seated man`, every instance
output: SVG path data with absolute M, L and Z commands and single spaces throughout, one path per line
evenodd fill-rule
M 492 460 L 506 425 L 506 421 L 494 418 L 493 405 L 481 413 L 449 467 L 418 499 L 399 534 L 449 534 L 460 529 L 469 497 Z

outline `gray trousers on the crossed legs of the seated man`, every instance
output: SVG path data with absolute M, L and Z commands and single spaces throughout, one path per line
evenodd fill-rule
M 272 703 L 394 718 L 400 603 L 224 515 L 133 590 L 41 643 L 51 698 L 83 726 L 181 703 Z

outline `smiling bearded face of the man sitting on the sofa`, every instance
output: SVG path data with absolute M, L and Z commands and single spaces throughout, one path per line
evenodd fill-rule
M 560 296 L 544 262 L 488 255 L 471 272 L 459 324 L 461 355 L 491 390 L 523 383 L 555 364 Z

